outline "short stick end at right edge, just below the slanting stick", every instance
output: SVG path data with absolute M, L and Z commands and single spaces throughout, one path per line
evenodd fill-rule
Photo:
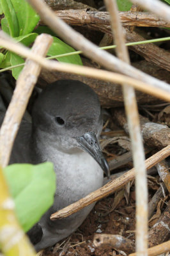
M 158 175 L 164 181 L 164 184 L 166 185 L 167 190 L 170 193 L 170 173 L 169 173 L 169 166 L 166 163 L 166 161 L 161 161 L 156 165 L 158 170 Z

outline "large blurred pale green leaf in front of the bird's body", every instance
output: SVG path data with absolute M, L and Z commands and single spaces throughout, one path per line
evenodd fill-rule
M 53 204 L 53 164 L 12 164 L 4 168 L 4 176 L 14 198 L 17 218 L 27 232 Z

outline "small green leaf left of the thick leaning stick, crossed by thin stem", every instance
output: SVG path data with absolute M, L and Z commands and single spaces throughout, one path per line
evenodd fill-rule
M 19 65 L 21 63 L 24 63 L 24 59 L 21 58 L 19 55 L 13 53 L 13 52 L 10 52 L 10 62 L 11 62 L 11 65 L 10 66 L 13 66 L 13 65 Z M 19 77 L 19 74 L 22 70 L 24 66 L 22 67 L 16 67 L 16 68 L 12 68 L 12 76 L 17 80 L 18 77 Z

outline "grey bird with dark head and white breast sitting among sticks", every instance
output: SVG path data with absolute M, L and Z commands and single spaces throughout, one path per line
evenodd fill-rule
M 22 120 L 10 164 L 51 161 L 56 173 L 54 204 L 28 235 L 36 251 L 70 236 L 94 204 L 61 220 L 50 215 L 102 187 L 109 166 L 100 149 L 102 109 L 97 94 L 77 80 L 58 80 L 38 95 L 32 122 Z

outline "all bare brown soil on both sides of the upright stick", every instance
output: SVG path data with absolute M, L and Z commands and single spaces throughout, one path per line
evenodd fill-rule
M 150 198 L 159 188 L 158 175 L 148 176 L 148 186 Z M 43 251 L 43 256 L 112 256 L 127 255 L 125 252 L 116 250 L 108 246 L 96 248 L 93 244 L 95 234 L 117 234 L 127 237 L 135 243 L 135 186 L 132 184 L 130 193 L 121 189 L 114 195 L 108 196 L 97 202 L 88 218 L 82 223 L 81 227 L 67 239 L 63 239 Z M 123 195 L 124 193 L 124 195 Z M 123 195 L 123 199 L 122 199 Z M 126 198 L 125 198 L 126 197 Z M 160 212 L 164 210 L 167 198 L 161 198 L 162 205 Z M 128 202 L 127 202 L 128 201 Z M 164 204 L 165 203 L 165 204 Z M 115 205 L 118 205 L 117 207 Z M 113 208 L 115 208 L 112 210 Z M 155 212 L 158 212 L 158 207 Z M 161 213 L 160 213 L 161 214 Z M 152 227 L 158 220 L 160 214 L 155 214 L 155 218 L 150 220 L 149 225 Z

